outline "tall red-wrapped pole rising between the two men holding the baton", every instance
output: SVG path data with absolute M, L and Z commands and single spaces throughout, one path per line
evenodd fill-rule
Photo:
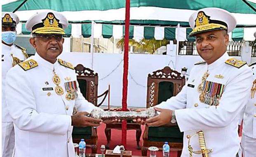
M 124 34 L 124 72 L 122 91 L 122 111 L 127 111 L 127 87 L 128 87 L 128 53 L 129 53 L 129 24 L 130 24 L 130 0 L 125 4 L 125 34 Z M 122 122 L 122 145 L 126 147 L 127 121 Z

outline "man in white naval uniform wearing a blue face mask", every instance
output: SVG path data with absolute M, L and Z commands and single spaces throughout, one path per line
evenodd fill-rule
M 2 12 L 2 157 L 12 157 L 14 148 L 13 120 L 5 100 L 5 76 L 9 69 L 28 58 L 26 48 L 13 44 L 18 23 L 16 14 Z

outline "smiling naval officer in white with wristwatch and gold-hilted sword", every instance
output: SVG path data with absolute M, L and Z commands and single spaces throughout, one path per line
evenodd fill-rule
M 189 24 L 193 28 L 190 36 L 196 37 L 197 51 L 204 61 L 191 69 L 178 95 L 156 106 L 160 115 L 146 122 L 149 126 L 177 122 L 184 132 L 181 157 L 202 157 L 193 152 L 197 150 L 210 157 L 236 157 L 240 149 L 238 124 L 252 85 L 246 62 L 226 52 L 227 33 L 235 28 L 236 20 L 223 9 L 204 8 L 190 16 Z

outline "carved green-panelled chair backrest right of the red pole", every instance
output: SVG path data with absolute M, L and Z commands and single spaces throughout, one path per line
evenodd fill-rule
M 185 76 L 170 67 L 148 74 L 147 108 L 176 96 L 185 85 Z

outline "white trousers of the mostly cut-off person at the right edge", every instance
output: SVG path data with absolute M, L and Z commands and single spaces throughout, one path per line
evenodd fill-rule
M 242 134 L 243 157 L 256 157 L 256 139 Z

